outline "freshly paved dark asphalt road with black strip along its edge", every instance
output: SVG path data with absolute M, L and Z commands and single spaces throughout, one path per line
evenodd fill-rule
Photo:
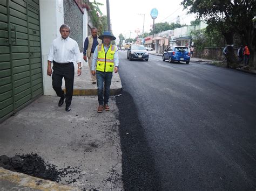
M 119 62 L 126 190 L 255 190 L 254 75 L 126 51 Z

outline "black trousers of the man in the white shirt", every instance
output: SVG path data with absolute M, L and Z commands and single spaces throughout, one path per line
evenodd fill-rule
M 74 75 L 75 69 L 73 63 L 56 63 L 53 61 L 53 73 L 52 73 L 52 88 L 56 91 L 58 97 L 64 96 L 64 91 L 62 90 L 62 79 L 65 80 L 66 88 L 66 106 L 71 105 L 73 96 L 73 85 L 74 85 Z

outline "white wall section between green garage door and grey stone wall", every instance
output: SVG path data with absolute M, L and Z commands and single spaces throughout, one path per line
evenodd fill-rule
M 52 79 L 47 75 L 47 56 L 52 40 L 60 36 L 59 27 L 64 23 L 63 0 L 39 1 L 39 6 L 44 95 L 56 95 Z

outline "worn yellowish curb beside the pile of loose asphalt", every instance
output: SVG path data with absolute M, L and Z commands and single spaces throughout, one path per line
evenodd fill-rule
M 0 188 L 2 190 L 79 190 L 50 180 L 12 172 L 0 167 Z

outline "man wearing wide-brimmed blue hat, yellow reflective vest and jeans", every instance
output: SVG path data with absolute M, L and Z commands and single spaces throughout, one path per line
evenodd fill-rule
M 110 85 L 113 71 L 114 73 L 118 72 L 119 60 L 117 48 L 111 44 L 111 40 L 115 40 L 116 37 L 114 37 L 111 32 L 105 31 L 99 36 L 99 39 L 103 40 L 103 44 L 99 44 L 95 48 L 92 58 L 91 73 L 92 75 L 96 74 L 99 102 L 97 112 L 101 113 L 104 109 L 106 111 L 110 110 L 108 105 Z

